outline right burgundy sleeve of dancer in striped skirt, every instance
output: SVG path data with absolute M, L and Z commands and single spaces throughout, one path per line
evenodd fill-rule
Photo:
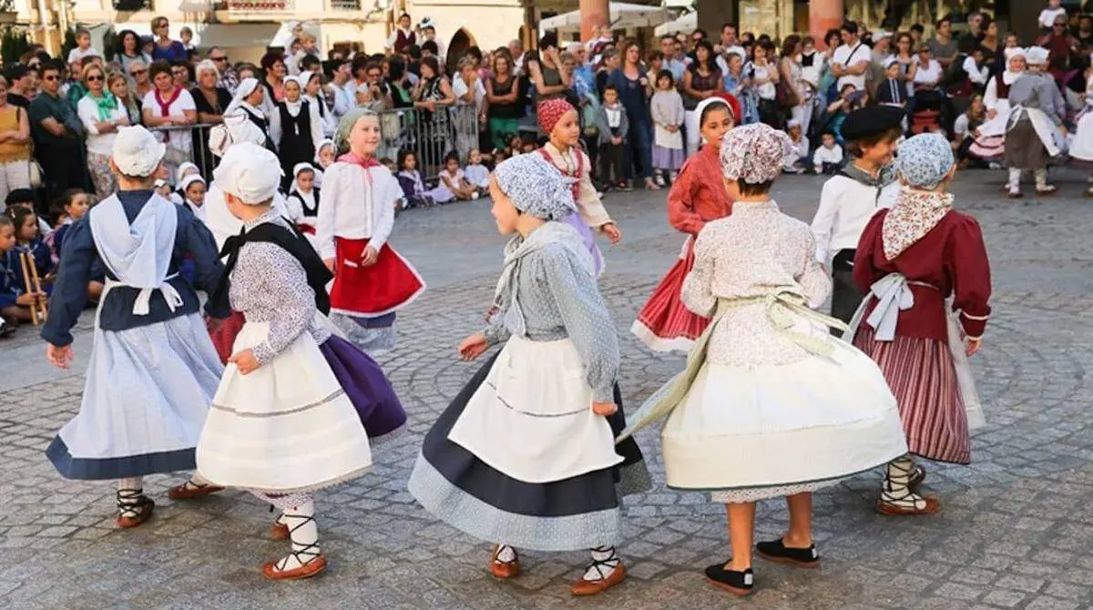
M 953 310 L 969 339 L 980 339 L 990 318 L 990 260 L 983 230 L 961 214 L 945 244 L 945 271 L 953 280 Z

